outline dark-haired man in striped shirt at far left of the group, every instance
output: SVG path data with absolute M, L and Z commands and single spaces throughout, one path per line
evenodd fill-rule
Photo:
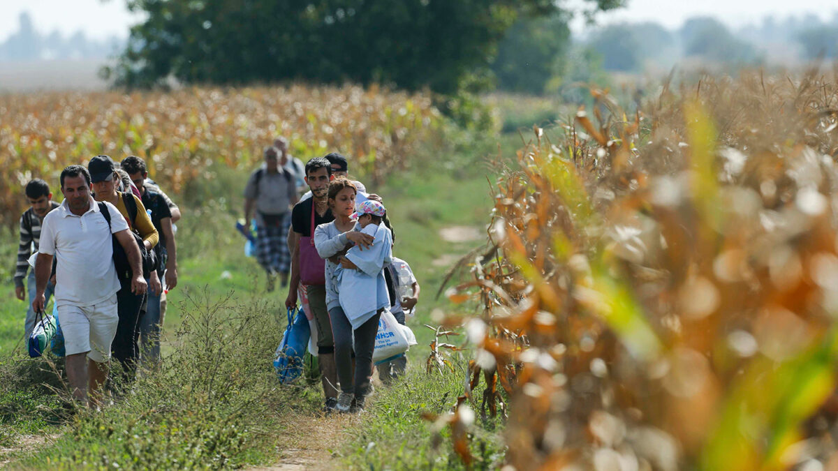
M 18 263 L 14 271 L 14 294 L 21 301 L 26 299 L 26 292 L 29 293 L 28 310 L 26 311 L 25 332 L 28 339 L 29 334 L 35 327 L 35 312 L 32 309 L 32 301 L 35 297 L 35 271 L 28 272 L 29 256 L 38 251 L 41 239 L 41 224 L 44 216 L 49 211 L 59 207 L 59 204 L 52 200 L 52 193 L 49 192 L 49 185 L 42 179 L 34 179 L 26 184 L 26 199 L 31 208 L 20 216 L 20 245 L 18 246 Z M 26 287 L 23 287 L 23 279 L 26 279 Z M 54 285 L 47 283 L 46 302 L 52 296 Z

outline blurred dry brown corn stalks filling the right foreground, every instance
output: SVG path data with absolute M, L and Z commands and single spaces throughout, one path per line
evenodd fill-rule
M 706 78 L 634 116 L 593 93 L 499 179 L 452 294 L 483 308 L 466 388 L 504 391 L 507 463 L 838 466 L 838 76 Z

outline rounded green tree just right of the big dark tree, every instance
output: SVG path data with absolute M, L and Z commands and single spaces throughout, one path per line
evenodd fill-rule
M 498 44 L 498 55 L 492 64 L 498 88 L 543 93 L 570 45 L 568 19 L 566 12 L 519 18 Z

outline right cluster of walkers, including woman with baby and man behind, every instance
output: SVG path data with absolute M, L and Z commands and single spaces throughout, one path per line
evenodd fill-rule
M 406 261 L 392 256 L 393 233 L 383 200 L 349 179 L 344 156 L 329 153 L 309 160 L 302 175 L 308 192 L 297 199 L 291 185 L 301 175 L 291 167 L 287 142 L 276 143 L 283 145 L 265 149 L 265 163 L 245 189 L 247 220 L 253 207 L 261 213 L 256 216 L 256 257 L 267 272 L 268 290 L 277 272 L 284 285 L 288 267 L 286 307 L 300 303 L 313 319 L 324 410 L 361 411 L 372 391 L 380 314 L 389 309 L 404 324 L 404 310 L 416 305 L 419 284 Z M 270 187 L 264 183 L 269 181 Z M 279 241 L 284 230 L 287 243 Z M 400 375 L 405 365 L 403 355 L 378 365 L 380 379 Z

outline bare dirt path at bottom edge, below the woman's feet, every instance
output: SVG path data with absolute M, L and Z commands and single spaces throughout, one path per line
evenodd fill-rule
M 360 417 L 348 414 L 332 414 L 328 417 L 312 417 L 309 413 L 292 412 L 282 419 L 285 432 L 279 443 L 285 443 L 280 460 L 265 468 L 252 471 L 292 471 L 298 469 L 342 468 L 338 451 L 349 437 L 344 430 L 360 421 Z

